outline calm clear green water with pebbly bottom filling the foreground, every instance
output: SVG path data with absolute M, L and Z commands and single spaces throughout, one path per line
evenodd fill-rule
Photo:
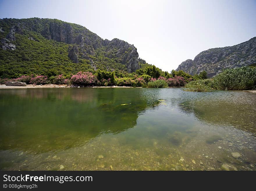
M 0 169 L 256 170 L 255 100 L 181 88 L 1 89 Z

